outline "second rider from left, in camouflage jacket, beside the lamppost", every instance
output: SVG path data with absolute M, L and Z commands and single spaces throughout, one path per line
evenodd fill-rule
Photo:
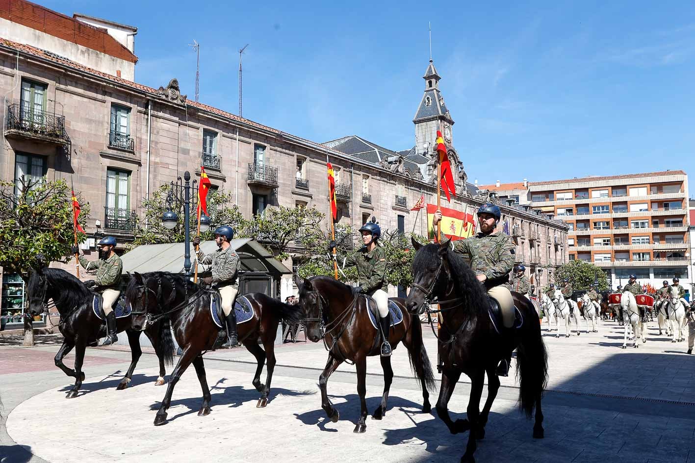
M 217 251 L 206 255 L 202 249 L 198 248 L 198 262 L 206 265 L 212 264 L 212 276 L 203 278 L 202 283 L 216 287 L 222 298 L 224 326 L 227 328 L 227 342 L 222 344 L 223 348 L 232 348 L 239 344 L 234 303 L 239 292 L 237 276 L 241 262 L 239 255 L 229 245 L 232 239 L 234 239 L 234 230 L 224 225 L 215 230 L 215 243 L 219 248 Z M 193 238 L 193 244 L 198 246 L 200 238 Z

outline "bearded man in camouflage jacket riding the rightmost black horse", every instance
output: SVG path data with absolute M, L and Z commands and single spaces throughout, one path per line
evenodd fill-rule
M 441 211 L 434 214 L 433 224 L 441 221 Z M 474 237 L 459 239 L 452 242 L 453 249 L 459 253 L 471 270 L 476 274 L 478 281 L 484 285 L 487 294 L 494 298 L 500 305 L 502 321 L 506 328 L 514 326 L 514 298 L 509 291 L 509 273 L 514 269 L 514 253 L 516 245 L 512 237 L 506 233 L 497 232 L 495 228 L 502 217 L 500 208 L 487 203 L 477 210 L 480 233 Z M 512 360 L 510 351 L 507 358 L 502 359 L 497 368 L 498 376 L 507 376 L 509 362 Z

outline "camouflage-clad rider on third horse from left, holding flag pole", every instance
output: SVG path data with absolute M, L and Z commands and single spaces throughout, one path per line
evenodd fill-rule
M 347 257 L 341 257 L 340 260 L 343 261 L 343 267 L 357 267 L 359 286 L 354 287 L 353 292 L 368 294 L 377 304 L 379 331 L 382 334 L 382 357 L 389 357 L 391 355 L 391 344 L 389 344 L 391 317 L 389 285 L 386 283 L 386 251 L 378 244 L 382 228 L 374 222 L 367 222 L 359 229 L 359 232 L 362 234 L 364 246 Z M 335 247 L 336 242 L 330 242 L 329 249 L 332 251 Z

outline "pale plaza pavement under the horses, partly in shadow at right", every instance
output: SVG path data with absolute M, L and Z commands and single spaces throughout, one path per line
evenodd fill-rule
M 532 439 L 532 421 L 516 409 L 516 380 L 502 378 L 477 461 L 695 463 L 695 355 L 684 355 L 684 342 L 672 344 L 650 325 L 647 344 L 626 350 L 619 348 L 623 331 L 614 322 L 602 322 L 598 333 L 585 333 L 582 326 L 582 334 L 569 339 L 556 339 L 543 327 L 550 364 L 543 401 L 546 438 Z M 436 340 L 423 328 L 434 363 Z M 3 345 L 0 338 L 0 414 L 6 418 L 0 425 L 0 463 L 457 462 L 468 437 L 450 435 L 434 410 L 420 411 L 421 392 L 402 346 L 393 355 L 396 378 L 386 416 L 368 419 L 367 432 L 355 435 L 354 367 L 341 366 L 328 382 L 341 420 L 332 423 L 320 408 L 322 344 L 277 346 L 265 409 L 256 408 L 250 353 L 243 348 L 208 353 L 211 414 L 197 416 L 201 389 L 191 367 L 174 389 L 169 423 L 155 427 L 165 387 L 154 386 L 154 355 L 143 354 L 131 387 L 116 391 L 129 364 L 127 348 L 89 349 L 81 394 L 68 400 L 72 378 L 54 367 L 58 344 L 50 344 L 59 339 L 40 339 L 47 344 L 21 348 L 7 340 Z M 368 373 L 373 412 L 383 385 L 377 357 L 370 358 Z M 467 382 L 461 378 L 450 401 L 454 419 L 465 415 Z M 432 392 L 432 405 L 437 395 Z

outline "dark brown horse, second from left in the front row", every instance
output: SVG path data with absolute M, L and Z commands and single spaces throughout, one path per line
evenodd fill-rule
M 261 398 L 257 407 L 268 403 L 272 371 L 275 369 L 275 335 L 280 320 L 297 323 L 301 320 L 300 308 L 296 305 L 281 303 L 263 293 L 245 294 L 254 312 L 252 319 L 238 325 L 238 335 L 250 353 L 256 357 L 258 367 L 252 381 Z M 200 387 L 203 390 L 203 405 L 198 416 L 210 413 L 210 389 L 205 377 L 203 353 L 215 346 L 220 328 L 215 325 L 210 314 L 211 292 L 203 290 L 185 276 L 177 273 L 155 271 L 151 273 L 134 273 L 126 289 L 126 301 L 133 308 L 133 323 L 147 326 L 164 317 L 172 321 L 174 336 L 183 349 L 183 355 L 174 368 L 167 392 L 156 417 L 155 426 L 166 423 L 167 409 L 171 404 L 172 393 L 179 378 L 193 363 Z M 263 348 L 259 346 L 261 338 Z M 268 378 L 265 385 L 261 383 L 261 371 L 266 362 Z

